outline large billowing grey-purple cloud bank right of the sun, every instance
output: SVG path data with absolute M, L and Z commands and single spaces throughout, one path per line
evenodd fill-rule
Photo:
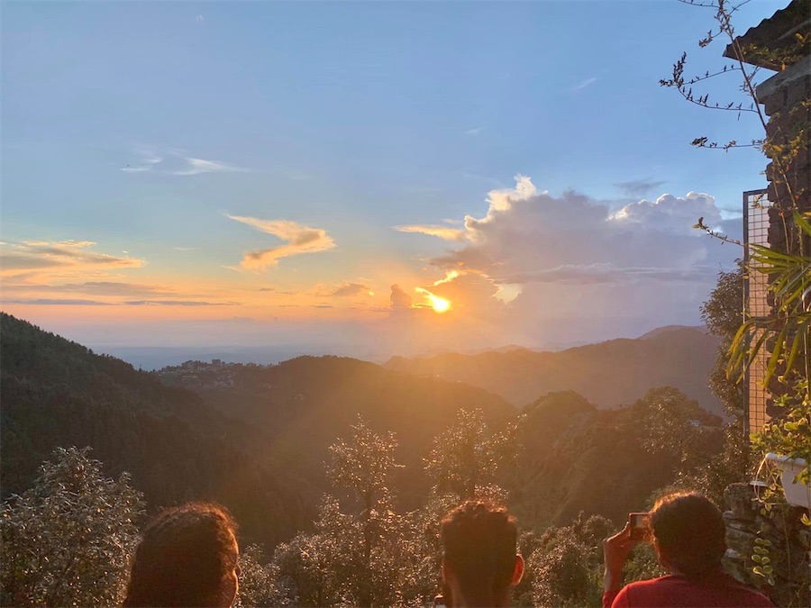
M 575 191 L 551 195 L 516 176 L 514 188 L 487 200 L 488 213 L 466 216 L 459 233 L 420 224 L 396 230 L 457 243 L 428 257 L 445 278 L 417 293 L 450 300 L 451 311 L 477 319 L 499 343 L 565 342 L 584 333 L 600 340 L 697 324 L 718 271 L 740 255 L 692 228 L 700 216 L 722 224 L 712 195 L 664 194 L 617 208 Z M 405 295 L 392 289 L 393 312 L 404 308 Z

